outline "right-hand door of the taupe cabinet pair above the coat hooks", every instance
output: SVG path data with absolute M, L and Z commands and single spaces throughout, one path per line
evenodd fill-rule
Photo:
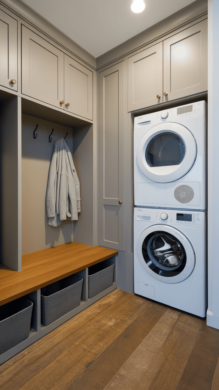
M 93 120 L 93 72 L 66 54 L 64 64 L 64 109 Z

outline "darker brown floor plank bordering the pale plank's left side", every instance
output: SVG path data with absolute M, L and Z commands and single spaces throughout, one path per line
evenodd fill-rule
M 166 311 L 167 307 L 151 302 L 68 390 L 103 389 Z

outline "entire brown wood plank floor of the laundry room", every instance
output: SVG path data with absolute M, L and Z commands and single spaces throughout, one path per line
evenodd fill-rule
M 219 390 L 219 330 L 116 289 L 0 366 L 1 390 Z

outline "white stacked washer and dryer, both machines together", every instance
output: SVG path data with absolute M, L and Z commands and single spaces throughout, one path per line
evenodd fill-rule
M 205 101 L 134 119 L 134 291 L 206 315 Z

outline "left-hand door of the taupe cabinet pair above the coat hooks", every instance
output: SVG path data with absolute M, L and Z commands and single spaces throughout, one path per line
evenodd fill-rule
M 64 53 L 22 26 L 21 92 L 63 108 Z

